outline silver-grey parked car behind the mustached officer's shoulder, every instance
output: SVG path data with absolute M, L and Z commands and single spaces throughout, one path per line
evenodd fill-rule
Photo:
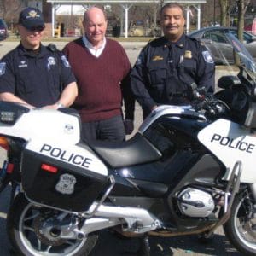
M 201 28 L 195 32 L 190 32 L 189 36 L 192 38 L 199 38 L 201 42 L 207 46 L 207 49 L 212 52 L 213 59 L 217 64 L 220 64 L 220 60 L 223 59 L 219 57 L 220 52 L 224 53 L 226 60 L 232 63 L 234 62 L 233 49 L 225 37 L 225 33 L 228 32 L 232 33 L 237 38 L 236 27 L 224 26 Z M 256 61 L 256 36 L 249 32 L 243 32 L 243 43 L 248 52 L 253 56 L 254 61 Z

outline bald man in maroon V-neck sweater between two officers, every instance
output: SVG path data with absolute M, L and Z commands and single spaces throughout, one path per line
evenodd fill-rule
M 122 141 L 125 133 L 133 131 L 135 100 L 130 86 L 131 64 L 125 49 L 105 37 L 107 22 L 102 9 L 88 9 L 84 13 L 84 36 L 63 49 L 79 86 L 73 108 L 79 110 L 82 136 L 89 141 Z

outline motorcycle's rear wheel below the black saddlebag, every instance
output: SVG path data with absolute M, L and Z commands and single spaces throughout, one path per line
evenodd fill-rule
M 7 218 L 9 241 L 18 255 L 89 255 L 96 245 L 97 235 L 82 239 L 62 236 L 61 224 L 72 224 L 74 218 L 65 212 L 35 207 L 23 194 L 17 195 Z

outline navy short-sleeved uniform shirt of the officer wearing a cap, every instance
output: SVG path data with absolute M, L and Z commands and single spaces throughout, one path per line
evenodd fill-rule
M 10 92 L 38 108 L 55 104 L 75 81 L 65 55 L 42 44 L 38 54 L 20 44 L 0 61 L 0 93 Z

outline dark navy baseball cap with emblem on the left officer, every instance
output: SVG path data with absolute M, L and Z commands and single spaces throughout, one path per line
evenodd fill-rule
M 44 17 L 40 10 L 27 7 L 20 12 L 19 24 L 28 30 L 44 30 Z

